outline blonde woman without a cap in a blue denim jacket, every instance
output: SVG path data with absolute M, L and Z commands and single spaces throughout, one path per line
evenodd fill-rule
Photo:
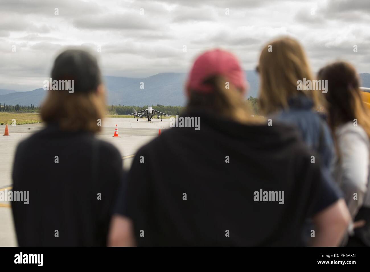
M 272 124 L 276 120 L 295 125 L 307 146 L 319 155 L 320 159 L 314 156 L 315 162 L 330 169 L 334 158 L 333 140 L 326 122 L 316 113 L 322 108 L 320 93 L 323 90 L 312 90 L 316 84 L 302 46 L 290 37 L 271 41 L 260 54 L 257 71 L 262 112 L 272 119 Z M 311 82 L 311 90 L 300 84 L 303 82 Z

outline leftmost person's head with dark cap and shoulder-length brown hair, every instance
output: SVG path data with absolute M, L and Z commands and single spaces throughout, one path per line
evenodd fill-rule
M 105 113 L 105 97 L 97 93 L 101 73 L 95 57 L 83 50 L 66 50 L 54 62 L 54 80 L 74 80 L 74 92 L 50 90 L 41 106 L 41 118 L 62 130 L 100 130 L 98 119 Z

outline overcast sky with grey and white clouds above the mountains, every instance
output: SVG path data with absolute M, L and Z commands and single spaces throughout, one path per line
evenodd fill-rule
M 213 47 L 252 70 L 279 35 L 303 44 L 314 71 L 340 58 L 370 73 L 369 26 L 369 0 L 0 0 L 0 88 L 42 87 L 55 56 L 80 45 L 95 52 L 104 75 L 186 73 Z

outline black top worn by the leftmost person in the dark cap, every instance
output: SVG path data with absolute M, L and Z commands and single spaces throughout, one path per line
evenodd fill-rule
M 55 158 L 57 156 L 57 158 Z M 12 202 L 19 246 L 105 246 L 122 157 L 90 132 L 63 132 L 50 124 L 22 141 L 13 166 Z

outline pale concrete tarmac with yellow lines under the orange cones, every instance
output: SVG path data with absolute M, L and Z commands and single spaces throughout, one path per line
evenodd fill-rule
M 120 137 L 112 137 L 115 125 L 118 125 Z M 170 128 L 169 119 L 106 118 L 102 121 L 102 130 L 97 137 L 113 144 L 121 153 L 122 165 L 128 170 L 137 150 L 142 145 L 158 136 L 159 129 Z M 27 124 L 9 127 L 10 137 L 2 136 L 5 125 L 0 125 L 0 191 L 11 187 L 11 171 L 17 145 L 20 141 L 41 130 L 44 124 Z M 0 246 L 16 246 L 11 208 L 8 202 L 0 202 Z

